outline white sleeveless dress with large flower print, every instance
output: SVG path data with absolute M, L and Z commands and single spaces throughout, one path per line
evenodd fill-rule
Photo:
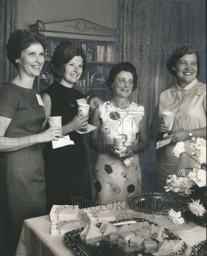
M 101 124 L 99 140 L 106 139 L 114 144 L 113 137 L 125 135 L 125 146 L 138 141 L 139 123 L 144 115 L 144 107 L 134 102 L 125 110 L 115 108 L 111 101 L 99 105 Z M 141 193 L 141 170 L 138 154 L 133 156 L 131 165 L 126 166 L 119 157 L 101 153 L 95 166 L 92 197 L 99 200 L 126 200 Z

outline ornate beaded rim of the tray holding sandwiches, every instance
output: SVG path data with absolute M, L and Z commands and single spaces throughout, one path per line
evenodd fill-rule
M 121 219 L 121 220 L 115 220 L 115 221 L 110 221 L 109 223 L 113 224 L 113 223 L 122 223 L 122 222 L 126 222 L 126 221 L 130 221 L 130 220 L 135 220 L 137 222 L 143 222 L 143 221 L 148 221 L 149 224 L 154 224 L 156 227 L 158 227 L 159 225 L 152 222 L 152 221 L 149 221 L 149 220 L 146 220 L 146 219 L 142 219 L 142 218 L 130 218 L 130 219 Z M 100 227 L 101 223 L 100 224 L 96 224 L 95 226 L 97 227 Z M 72 236 L 74 233 L 77 233 L 77 232 L 80 232 L 84 229 L 84 227 L 82 228 L 78 228 L 78 229 L 74 229 L 72 231 L 69 231 L 69 232 L 66 232 L 63 236 L 64 238 L 64 242 L 70 246 L 73 251 L 80 255 L 80 256 L 90 256 L 88 254 L 86 254 L 75 242 L 71 241 L 70 240 L 70 236 Z M 166 234 L 169 234 L 170 236 L 176 238 L 175 240 L 182 240 L 180 237 L 178 237 L 177 235 L 173 234 L 169 229 L 167 228 L 164 228 L 164 232 Z M 184 241 L 183 241 L 184 242 Z M 173 252 L 173 253 L 170 253 L 169 256 L 177 256 L 177 255 L 185 255 L 185 251 L 188 249 L 188 245 L 184 242 L 183 246 L 182 246 L 182 250 L 179 250 L 177 252 Z

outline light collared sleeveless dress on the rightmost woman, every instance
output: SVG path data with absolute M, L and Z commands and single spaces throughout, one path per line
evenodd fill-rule
M 200 83 L 195 78 L 183 89 L 176 84 L 160 94 L 159 120 L 162 120 L 163 111 L 173 111 L 176 113 L 173 122 L 172 132 L 186 131 L 206 127 L 206 114 L 203 108 L 203 100 L 206 96 L 206 84 Z M 193 135 L 192 135 L 193 136 Z M 191 148 L 189 140 L 185 140 L 185 151 L 190 154 Z M 168 175 L 175 174 L 179 177 L 178 171 L 186 167 L 194 168 L 197 164 L 186 154 L 176 157 L 173 148 L 176 143 L 170 143 L 157 150 L 158 170 L 157 170 L 157 192 L 166 192 L 166 179 Z M 190 170 L 185 170 L 188 174 Z

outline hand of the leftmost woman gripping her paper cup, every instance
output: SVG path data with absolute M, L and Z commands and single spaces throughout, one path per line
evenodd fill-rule
M 37 143 L 48 141 L 58 141 L 62 137 L 62 130 L 59 126 L 50 127 L 49 129 L 37 134 Z

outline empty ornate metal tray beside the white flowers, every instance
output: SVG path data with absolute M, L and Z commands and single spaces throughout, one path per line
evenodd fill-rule
M 131 196 L 128 204 L 133 210 L 168 214 L 170 209 L 181 207 L 184 198 L 184 196 L 170 193 L 142 193 Z

